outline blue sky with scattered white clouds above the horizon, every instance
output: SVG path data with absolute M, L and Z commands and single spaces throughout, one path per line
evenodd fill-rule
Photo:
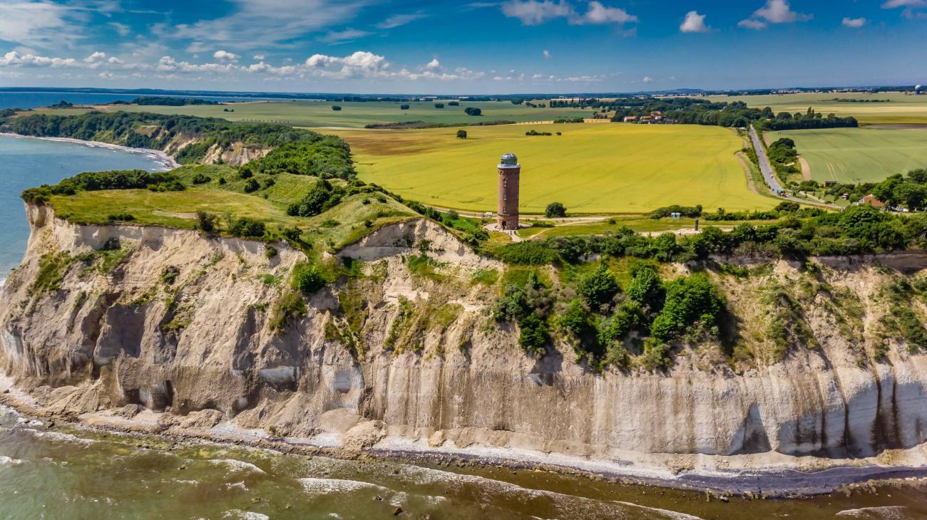
M 630 93 L 927 83 L 927 0 L 0 0 L 0 86 Z

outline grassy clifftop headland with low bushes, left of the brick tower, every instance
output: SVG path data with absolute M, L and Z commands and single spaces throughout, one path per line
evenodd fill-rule
M 103 224 L 110 215 L 129 213 L 135 224 L 171 226 L 193 229 L 197 223 L 197 210 L 224 216 L 251 217 L 263 221 L 271 228 L 296 227 L 303 229 L 303 239 L 311 244 L 323 244 L 327 249 L 339 249 L 390 223 L 416 216 L 412 210 L 387 197 L 386 203 L 377 200 L 379 193 L 352 195 L 341 204 L 315 217 L 289 217 L 286 205 L 300 199 L 317 182 L 313 177 L 279 174 L 276 184 L 254 193 L 245 193 L 243 180 L 235 178 L 230 167 L 197 166 L 175 170 L 192 179 L 197 172 L 212 177 L 209 183 L 191 186 L 184 192 L 149 192 L 148 190 L 108 190 L 78 192 L 76 195 L 52 197 L 58 217 L 73 222 Z M 220 185 L 223 176 L 228 182 Z M 257 176 L 265 180 L 268 176 Z M 336 181 L 337 182 L 337 181 Z M 266 195 L 266 198 L 264 197 Z M 364 204 L 366 200 L 368 204 Z M 364 220 L 369 220 L 367 227 Z M 225 228 L 224 222 L 221 224 Z M 313 248 L 317 251 L 319 248 Z

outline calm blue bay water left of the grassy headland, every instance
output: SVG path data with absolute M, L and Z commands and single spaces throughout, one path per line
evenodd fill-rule
M 0 281 L 19 265 L 29 240 L 20 192 L 82 171 L 132 168 L 163 169 L 145 154 L 0 135 Z

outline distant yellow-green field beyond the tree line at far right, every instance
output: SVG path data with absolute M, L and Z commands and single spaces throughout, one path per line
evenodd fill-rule
M 853 116 L 860 124 L 927 125 L 927 95 L 905 93 L 783 93 L 768 95 L 716 95 L 712 101 L 743 101 L 748 106 L 768 106 L 773 112 L 805 112 L 808 106 L 824 115 Z M 852 103 L 834 99 L 888 100 L 887 103 Z

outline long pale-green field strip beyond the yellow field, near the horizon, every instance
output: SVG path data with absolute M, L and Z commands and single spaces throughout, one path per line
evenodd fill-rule
M 589 118 L 592 110 L 576 108 L 533 108 L 526 105 L 513 105 L 509 102 L 462 101 L 460 106 L 447 105 L 436 108 L 435 102 L 366 102 L 337 103 L 331 101 L 273 101 L 235 103 L 229 105 L 98 105 L 99 110 L 123 110 L 127 112 L 153 112 L 156 114 L 181 114 L 201 118 L 224 118 L 230 121 L 250 121 L 261 123 L 281 123 L 298 127 L 342 127 L 363 128 L 370 123 L 389 123 L 402 121 L 425 121 L 426 123 L 473 124 L 475 121 L 492 121 L 504 119 L 509 121 L 549 121 L 557 118 Z M 341 110 L 332 110 L 332 105 L 341 106 Z M 408 110 L 401 110 L 400 105 L 410 105 Z M 476 106 L 483 111 L 482 116 L 467 116 L 464 108 Z M 225 112 L 224 110 L 230 110 Z M 44 109 L 49 113 L 70 116 L 85 112 L 86 109 Z M 231 110 L 235 110 L 231 112 Z

